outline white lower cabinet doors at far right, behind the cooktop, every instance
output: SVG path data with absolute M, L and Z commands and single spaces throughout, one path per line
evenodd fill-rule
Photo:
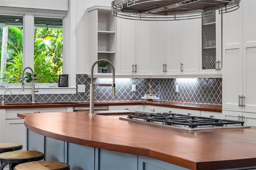
M 222 111 L 222 118 L 234 121 L 243 121 L 244 125 L 256 126 L 256 113 Z

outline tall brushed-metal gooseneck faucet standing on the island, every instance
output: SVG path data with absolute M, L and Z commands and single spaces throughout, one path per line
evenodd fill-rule
M 100 62 L 100 61 L 106 61 L 107 63 L 110 64 L 110 66 L 112 67 L 112 84 L 94 84 L 93 83 L 93 69 L 94 69 L 94 66 Z M 92 64 L 92 68 L 91 68 L 91 83 L 90 83 L 90 113 L 89 115 L 94 115 L 94 86 L 111 86 L 112 87 L 112 95 L 116 95 L 116 84 L 115 84 L 115 68 L 114 68 L 114 65 L 106 60 L 106 59 L 99 59 L 97 61 L 95 61 L 93 64 Z

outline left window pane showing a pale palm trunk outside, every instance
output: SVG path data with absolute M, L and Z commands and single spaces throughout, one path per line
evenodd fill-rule
M 23 65 L 23 16 L 0 15 L 0 83 L 20 83 Z

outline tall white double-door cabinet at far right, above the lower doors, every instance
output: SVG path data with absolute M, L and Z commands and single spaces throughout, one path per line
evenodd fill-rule
M 224 110 L 256 113 L 256 1 L 223 15 Z

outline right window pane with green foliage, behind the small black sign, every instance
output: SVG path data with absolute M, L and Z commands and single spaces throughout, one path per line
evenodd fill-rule
M 34 17 L 36 83 L 58 83 L 62 74 L 62 18 Z

